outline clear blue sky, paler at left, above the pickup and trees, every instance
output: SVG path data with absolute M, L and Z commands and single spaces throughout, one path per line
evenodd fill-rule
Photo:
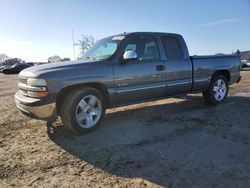
M 0 0 L 0 54 L 74 59 L 72 30 L 75 41 L 82 34 L 180 33 L 190 55 L 250 50 L 250 0 Z

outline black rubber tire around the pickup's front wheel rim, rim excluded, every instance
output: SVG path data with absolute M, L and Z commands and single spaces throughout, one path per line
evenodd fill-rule
M 76 118 L 76 110 L 77 108 L 79 108 L 80 101 L 84 99 L 84 97 L 88 96 L 95 96 L 99 100 L 100 102 L 99 104 L 101 105 L 102 108 L 100 110 L 101 115 L 98 118 L 95 125 L 90 128 L 85 128 L 81 126 L 80 123 L 78 123 Z M 70 130 L 71 132 L 79 134 L 89 133 L 95 130 L 100 125 L 100 121 L 102 120 L 104 114 L 105 114 L 104 97 L 98 90 L 94 88 L 82 88 L 68 93 L 60 107 L 60 116 L 66 129 Z

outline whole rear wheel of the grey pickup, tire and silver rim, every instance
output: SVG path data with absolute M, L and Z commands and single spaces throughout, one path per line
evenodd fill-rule
M 227 98 L 228 82 L 223 75 L 215 75 L 203 98 L 208 104 L 217 105 Z

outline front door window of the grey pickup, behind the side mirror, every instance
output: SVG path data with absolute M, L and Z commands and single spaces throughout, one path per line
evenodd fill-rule
M 140 60 L 159 59 L 156 41 L 150 36 L 134 36 L 128 39 L 125 50 L 135 50 Z

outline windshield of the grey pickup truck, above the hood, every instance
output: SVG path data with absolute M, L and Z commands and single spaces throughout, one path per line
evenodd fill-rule
M 83 59 L 103 60 L 111 57 L 124 36 L 108 37 L 95 43 L 83 56 Z

